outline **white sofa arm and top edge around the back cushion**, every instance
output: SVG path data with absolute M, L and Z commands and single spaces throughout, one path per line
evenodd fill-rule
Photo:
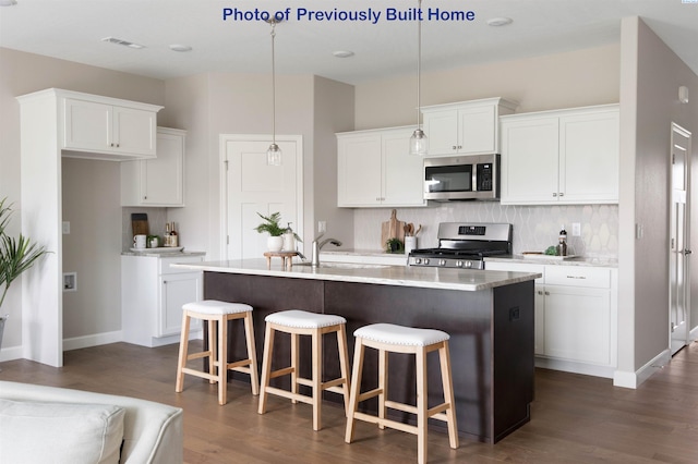
M 0 381 L 0 398 L 13 401 L 109 404 L 123 407 L 125 416 L 122 463 L 183 462 L 183 413 L 179 407 L 130 396 L 8 381 Z

